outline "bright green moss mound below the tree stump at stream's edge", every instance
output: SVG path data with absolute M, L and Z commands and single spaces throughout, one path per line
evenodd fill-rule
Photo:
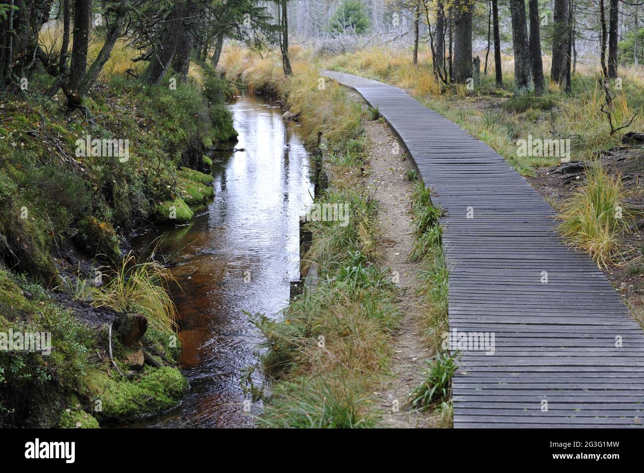
M 134 418 L 165 411 L 181 399 L 188 382 L 173 367 L 146 368 L 144 375 L 133 381 L 106 378 L 100 417 Z

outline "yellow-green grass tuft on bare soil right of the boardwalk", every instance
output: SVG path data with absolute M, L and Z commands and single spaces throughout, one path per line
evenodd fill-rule
M 587 251 L 605 268 L 620 254 L 620 235 L 634 215 L 626 202 L 621 177 L 594 163 L 586 168 L 585 185 L 562 205 L 558 230 L 569 245 Z

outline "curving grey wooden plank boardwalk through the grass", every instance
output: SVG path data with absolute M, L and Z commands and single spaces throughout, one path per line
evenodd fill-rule
M 450 329 L 495 333 L 493 355 L 462 352 L 454 427 L 643 427 L 644 333 L 592 259 L 564 245 L 544 198 L 403 90 L 321 74 L 378 108 L 446 210 Z

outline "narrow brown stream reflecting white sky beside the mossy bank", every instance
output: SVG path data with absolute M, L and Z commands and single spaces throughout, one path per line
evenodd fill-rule
M 243 311 L 274 315 L 298 279 L 298 216 L 313 193 L 298 125 L 263 98 L 238 97 L 231 110 L 235 146 L 245 151 L 215 153 L 213 203 L 191 225 L 138 242 L 164 234 L 159 253 L 176 254 L 181 366 L 191 389 L 179 407 L 135 427 L 252 426 L 240 381 L 261 335 Z M 261 375 L 253 379 L 261 385 Z

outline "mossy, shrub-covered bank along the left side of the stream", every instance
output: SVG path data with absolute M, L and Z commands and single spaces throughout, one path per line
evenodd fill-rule
M 105 75 L 85 102 L 91 120 L 44 94 L 46 73 L 0 93 L 0 335 L 50 333 L 52 344 L 0 350 L 0 427 L 97 427 L 164 411 L 187 389 L 173 329 L 142 322 L 134 342 L 108 336 L 124 316 L 108 307 L 152 321 L 172 310 L 166 288 L 158 310 L 106 303 L 114 287 L 97 308 L 91 290 L 107 287 L 101 264 L 130 264 L 121 255 L 139 228 L 187 223 L 213 198 L 205 153 L 236 132 L 229 86 L 207 67 L 201 79 Z

